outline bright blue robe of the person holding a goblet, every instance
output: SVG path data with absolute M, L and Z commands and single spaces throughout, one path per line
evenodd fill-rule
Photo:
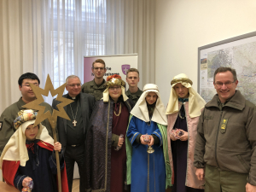
M 138 134 L 154 134 L 160 139 L 158 145 L 153 145 L 154 153 L 148 154 L 148 145 L 135 141 Z M 131 156 L 131 192 L 166 191 L 166 163 L 163 153 L 163 139 L 158 125 L 151 124 L 133 116 L 126 136 L 132 145 Z

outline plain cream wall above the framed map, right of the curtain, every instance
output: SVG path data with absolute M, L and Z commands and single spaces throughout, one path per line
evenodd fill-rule
M 256 31 L 256 1 L 157 0 L 155 17 L 155 83 L 166 104 L 179 73 L 197 90 L 198 47 Z

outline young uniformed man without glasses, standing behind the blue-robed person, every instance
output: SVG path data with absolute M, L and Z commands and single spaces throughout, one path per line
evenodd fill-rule
M 143 90 L 137 87 L 139 81 L 139 71 L 136 68 L 130 68 L 126 73 L 126 82 L 129 84 L 129 88 L 126 90 L 125 95 L 134 102 L 134 105 L 143 94 Z

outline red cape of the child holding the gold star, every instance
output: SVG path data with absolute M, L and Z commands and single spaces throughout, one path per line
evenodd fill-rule
M 49 143 L 44 143 L 42 141 L 38 142 L 38 145 L 41 148 L 46 148 L 49 151 L 53 151 L 54 147 Z M 15 187 L 14 180 L 16 172 L 18 171 L 18 168 L 20 166 L 20 160 L 19 161 L 12 161 L 12 160 L 3 160 L 3 178 L 6 183 L 11 184 Z M 57 177 L 58 180 L 58 177 Z M 66 165 L 64 163 L 64 168 L 61 170 L 61 191 L 62 192 L 68 192 L 68 184 L 67 184 L 67 172 L 66 172 Z

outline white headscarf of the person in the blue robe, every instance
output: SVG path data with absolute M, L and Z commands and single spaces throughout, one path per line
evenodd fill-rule
M 145 122 L 150 121 L 147 102 L 145 99 L 149 92 L 154 92 L 158 96 L 151 120 L 161 125 L 167 125 L 165 106 L 160 99 L 160 93 L 156 84 L 145 84 L 143 88 L 143 95 L 138 99 L 134 108 L 132 108 L 131 114 Z

